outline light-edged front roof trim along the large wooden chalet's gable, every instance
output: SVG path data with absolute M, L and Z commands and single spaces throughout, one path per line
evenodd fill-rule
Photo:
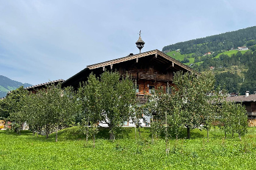
M 118 58 L 118 59 L 115 59 L 115 60 L 110 60 L 110 61 L 105 61 L 105 62 L 98 63 L 98 64 L 93 64 L 93 65 L 90 65 L 90 66 L 87 66 L 87 67 L 88 67 L 88 69 L 92 70 L 92 69 L 96 69 L 96 68 L 99 68 L 99 67 L 110 66 L 110 65 L 113 65 L 113 64 L 122 63 L 124 61 L 129 61 L 129 60 L 134 60 L 134 59 L 137 59 L 137 58 L 142 58 L 142 57 L 148 56 L 148 55 L 155 55 L 156 57 L 158 55 L 162 56 L 166 60 L 171 61 L 172 63 L 182 67 L 183 69 L 186 69 L 190 72 L 196 72 L 195 70 L 191 69 L 190 67 L 186 66 L 185 64 L 180 63 L 179 61 L 175 60 L 171 56 L 168 56 L 165 53 L 160 52 L 159 50 L 152 50 L 152 51 L 149 51 L 149 52 L 138 53 L 136 55 L 129 55 L 129 56 L 125 56 L 123 58 Z

